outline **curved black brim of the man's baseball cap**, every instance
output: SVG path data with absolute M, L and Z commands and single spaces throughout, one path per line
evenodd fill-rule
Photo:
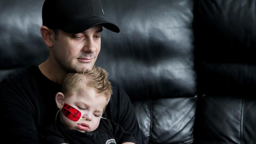
M 116 33 L 120 32 L 120 29 L 118 28 L 118 26 L 116 26 L 112 22 L 109 22 L 105 18 L 96 17 L 96 16 L 80 18 L 78 20 L 75 20 L 73 22 L 68 22 L 68 23 L 60 22 L 59 29 L 66 31 L 67 33 L 81 33 L 98 24 L 102 24 L 104 28 L 111 30 L 113 32 L 116 32 Z

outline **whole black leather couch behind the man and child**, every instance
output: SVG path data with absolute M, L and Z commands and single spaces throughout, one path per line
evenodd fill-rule
M 0 81 L 43 62 L 43 0 L 0 0 Z M 147 144 L 256 144 L 256 0 L 102 0 L 96 62 Z

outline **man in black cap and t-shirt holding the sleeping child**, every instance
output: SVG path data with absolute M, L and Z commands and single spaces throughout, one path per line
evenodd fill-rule
M 93 67 L 100 52 L 102 26 L 119 32 L 104 18 L 99 0 L 45 0 L 42 18 L 41 35 L 49 47 L 48 59 L 0 83 L 2 138 L 8 143 L 40 143 L 38 131 L 55 122 L 58 108 L 54 96 L 65 74 Z M 113 95 L 103 116 L 142 144 L 129 97 L 111 83 Z

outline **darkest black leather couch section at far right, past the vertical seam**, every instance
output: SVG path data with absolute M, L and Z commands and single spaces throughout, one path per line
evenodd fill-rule
M 256 0 L 195 6 L 198 142 L 256 143 Z

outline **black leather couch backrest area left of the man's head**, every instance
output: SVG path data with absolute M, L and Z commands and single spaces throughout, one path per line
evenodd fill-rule
M 43 0 L 0 0 L 0 81 L 48 57 L 40 27 Z

